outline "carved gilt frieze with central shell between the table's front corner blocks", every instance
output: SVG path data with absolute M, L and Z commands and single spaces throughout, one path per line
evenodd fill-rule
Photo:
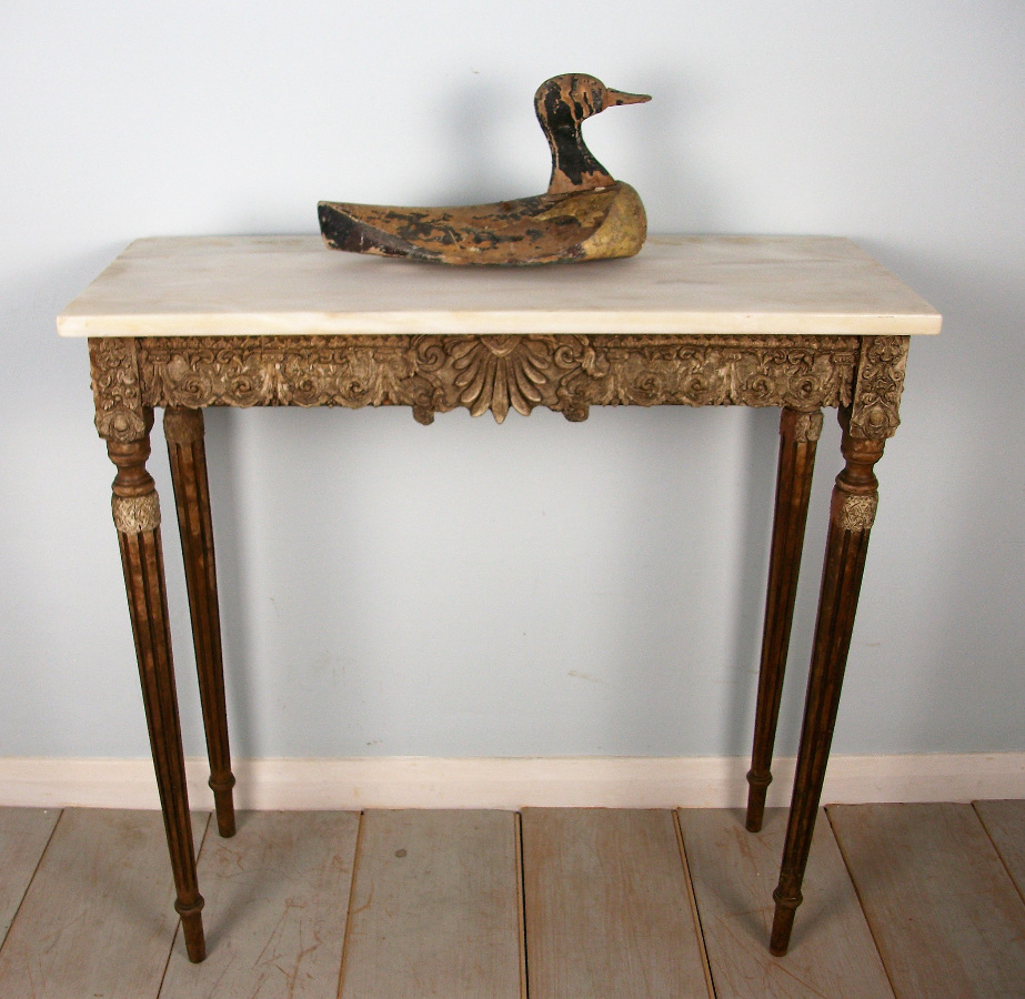
M 850 405 L 854 336 L 420 335 L 142 337 L 142 404 L 458 407 Z M 98 412 L 107 400 L 98 393 Z

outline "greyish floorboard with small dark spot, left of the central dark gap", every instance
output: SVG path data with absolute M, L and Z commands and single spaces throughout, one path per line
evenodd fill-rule
M 342 999 L 521 999 L 513 811 L 363 815 Z

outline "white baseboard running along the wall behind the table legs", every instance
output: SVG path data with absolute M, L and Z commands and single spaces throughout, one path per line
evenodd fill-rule
M 747 760 L 732 757 L 252 759 L 234 766 L 243 809 L 740 808 Z M 187 760 L 209 809 L 205 760 Z M 774 766 L 770 805 L 788 804 L 793 758 Z M 824 804 L 1025 798 L 1025 753 L 834 756 Z M 0 758 L 0 805 L 158 808 L 148 759 Z

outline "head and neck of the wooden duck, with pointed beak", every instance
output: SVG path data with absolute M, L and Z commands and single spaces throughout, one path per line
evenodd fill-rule
M 552 180 L 549 194 L 586 191 L 615 183 L 609 171 L 584 145 L 580 127 L 592 114 L 620 104 L 642 104 L 646 93 L 610 90 L 586 73 L 563 73 L 537 88 L 534 110 L 552 148 Z

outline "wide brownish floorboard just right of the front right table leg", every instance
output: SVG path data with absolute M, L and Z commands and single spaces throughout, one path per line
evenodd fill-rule
M 898 999 L 1025 996 L 1025 902 L 971 805 L 836 805 Z

